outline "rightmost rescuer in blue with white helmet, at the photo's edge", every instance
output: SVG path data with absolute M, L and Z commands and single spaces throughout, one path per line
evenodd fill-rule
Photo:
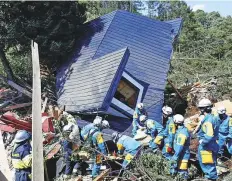
M 225 107 L 217 109 L 216 121 L 219 125 L 219 154 L 223 154 L 223 146 L 226 145 L 228 152 L 232 154 L 232 118 L 226 114 Z

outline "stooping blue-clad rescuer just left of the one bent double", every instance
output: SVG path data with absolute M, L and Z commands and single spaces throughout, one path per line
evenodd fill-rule
M 93 128 L 90 130 L 88 139 L 92 141 L 93 148 L 95 151 L 95 162 L 92 170 L 92 177 L 95 178 L 100 173 L 102 157 L 107 156 L 106 147 L 104 144 L 104 139 L 102 132 L 99 129 Z

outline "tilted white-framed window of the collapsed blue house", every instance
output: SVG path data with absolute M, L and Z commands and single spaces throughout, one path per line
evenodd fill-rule
M 143 86 L 124 72 L 112 103 L 123 111 L 133 114 L 136 104 L 141 102 L 142 93 Z

